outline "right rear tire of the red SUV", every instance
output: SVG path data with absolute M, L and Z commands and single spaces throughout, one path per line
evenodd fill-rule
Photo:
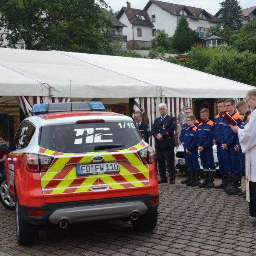
M 139 232 L 149 232 L 157 225 L 157 209 L 149 214 L 140 215 L 136 221 L 131 221 L 134 230 Z

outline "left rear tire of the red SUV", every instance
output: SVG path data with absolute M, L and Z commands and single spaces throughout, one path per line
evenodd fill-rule
M 19 201 L 16 200 L 16 236 L 17 236 L 17 242 L 20 245 L 30 245 L 30 244 L 36 244 L 39 240 L 39 230 L 29 224 L 26 223 L 26 221 L 23 221 L 22 218 L 20 218 L 19 212 L 20 212 L 20 204 Z

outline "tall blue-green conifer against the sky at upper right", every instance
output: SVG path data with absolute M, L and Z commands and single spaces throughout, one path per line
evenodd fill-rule
M 237 31 L 242 27 L 242 11 L 238 0 L 223 0 L 220 3 L 221 22 L 224 28 Z

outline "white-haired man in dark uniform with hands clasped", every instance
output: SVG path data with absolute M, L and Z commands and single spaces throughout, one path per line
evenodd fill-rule
M 167 183 L 166 163 L 169 167 L 170 184 L 175 184 L 175 165 L 174 165 L 174 148 L 175 136 L 174 131 L 177 125 L 173 116 L 167 115 L 167 105 L 159 104 L 160 117 L 154 120 L 152 135 L 155 138 L 155 148 L 157 150 L 157 164 L 160 174 L 158 183 Z

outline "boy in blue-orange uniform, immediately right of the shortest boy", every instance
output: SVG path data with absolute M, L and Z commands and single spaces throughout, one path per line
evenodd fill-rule
M 199 150 L 201 164 L 204 168 L 204 182 L 198 185 L 199 188 L 211 189 L 214 187 L 215 166 L 212 151 L 213 122 L 209 120 L 209 110 L 203 108 L 200 111 L 200 117 L 203 122 L 198 125 L 195 134 L 195 143 Z

